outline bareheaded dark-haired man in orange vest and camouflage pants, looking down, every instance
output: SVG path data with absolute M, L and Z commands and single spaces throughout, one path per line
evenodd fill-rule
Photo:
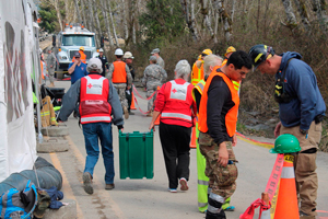
M 248 54 L 242 50 L 233 53 L 225 66 L 212 69 L 200 100 L 198 142 L 207 160 L 206 175 L 212 184 L 207 219 L 225 219 L 222 205 L 236 189 L 237 160 L 232 146 L 237 141 L 235 131 L 239 96 L 232 80 L 245 79 L 250 69 Z

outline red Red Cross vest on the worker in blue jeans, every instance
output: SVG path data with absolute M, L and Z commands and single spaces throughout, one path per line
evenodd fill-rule
M 109 81 L 101 74 L 81 78 L 81 124 L 110 123 L 112 106 L 108 103 Z

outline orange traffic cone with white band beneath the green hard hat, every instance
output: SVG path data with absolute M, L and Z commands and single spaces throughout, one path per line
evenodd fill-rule
M 293 161 L 294 155 L 284 154 L 274 219 L 300 219 Z

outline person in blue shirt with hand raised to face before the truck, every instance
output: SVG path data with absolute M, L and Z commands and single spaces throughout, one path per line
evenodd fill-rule
M 71 74 L 71 84 L 74 84 L 75 81 L 87 76 L 86 65 L 82 62 L 79 51 L 75 51 L 74 62 L 69 65 L 68 73 Z

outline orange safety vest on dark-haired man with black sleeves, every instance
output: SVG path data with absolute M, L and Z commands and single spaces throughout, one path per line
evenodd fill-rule
M 225 127 L 227 135 L 230 137 L 233 137 L 236 132 L 236 126 L 237 126 L 237 115 L 238 115 L 238 106 L 239 106 L 239 96 L 238 92 L 235 90 L 233 82 L 222 72 L 216 72 L 218 68 L 214 68 L 211 74 L 209 76 L 206 87 L 202 92 L 202 96 L 200 100 L 200 108 L 199 108 L 199 117 L 198 117 L 198 129 L 201 132 L 208 132 L 208 90 L 210 88 L 210 84 L 212 82 L 212 79 L 214 76 L 221 77 L 226 85 L 229 87 L 229 90 L 231 92 L 232 101 L 235 103 L 235 105 L 226 113 L 225 115 Z

